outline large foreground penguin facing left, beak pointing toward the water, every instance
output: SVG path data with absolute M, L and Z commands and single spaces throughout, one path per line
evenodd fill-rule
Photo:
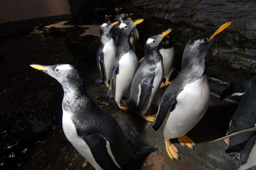
M 64 134 L 95 169 L 121 169 L 129 159 L 154 150 L 154 147 L 133 148 L 128 144 L 116 120 L 87 95 L 84 80 L 73 66 L 30 66 L 52 76 L 62 85 Z

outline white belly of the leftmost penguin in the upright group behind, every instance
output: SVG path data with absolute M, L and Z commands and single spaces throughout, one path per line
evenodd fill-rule
M 105 77 L 106 77 L 105 84 L 108 85 L 108 80 L 112 71 L 111 67 L 116 56 L 116 46 L 114 44 L 113 39 L 111 39 L 105 44 L 103 48 L 103 53 L 104 53 L 104 68 L 105 68 Z

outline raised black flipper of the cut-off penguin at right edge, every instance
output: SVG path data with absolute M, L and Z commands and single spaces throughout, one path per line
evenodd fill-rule
M 223 90 L 223 92 L 221 92 L 220 101 L 228 97 L 243 95 L 247 88 L 251 85 L 251 81 L 254 78 L 255 76 L 229 85 L 225 90 Z

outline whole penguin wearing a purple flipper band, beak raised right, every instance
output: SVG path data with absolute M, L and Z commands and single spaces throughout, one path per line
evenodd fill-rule
M 155 118 L 145 114 L 164 76 L 162 56 L 158 48 L 164 36 L 170 32 L 171 29 L 168 29 L 147 40 L 144 46 L 145 60 L 134 75 L 129 100 L 121 100 L 129 109 L 139 112 L 142 118 L 152 122 Z

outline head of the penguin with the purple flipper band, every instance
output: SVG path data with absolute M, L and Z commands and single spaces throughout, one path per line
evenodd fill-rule
M 168 29 L 163 33 L 150 37 L 145 43 L 145 47 L 144 47 L 145 50 L 149 50 L 149 51 L 152 51 L 153 49 L 158 50 L 159 45 L 162 44 L 164 37 L 168 35 L 171 31 L 172 29 Z

